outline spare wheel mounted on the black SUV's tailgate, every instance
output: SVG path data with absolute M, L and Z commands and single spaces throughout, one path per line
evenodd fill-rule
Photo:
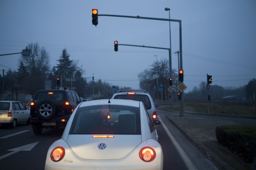
M 37 115 L 41 119 L 45 119 L 45 120 L 53 118 L 56 114 L 56 111 L 57 111 L 56 106 L 51 101 L 40 102 L 38 103 L 36 108 Z

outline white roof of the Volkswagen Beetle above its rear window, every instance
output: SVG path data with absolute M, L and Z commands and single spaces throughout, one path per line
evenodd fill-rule
M 132 100 L 121 100 L 121 99 L 110 99 L 110 100 L 104 99 L 104 100 L 82 102 L 79 107 L 94 106 L 94 105 L 124 105 L 124 106 L 140 107 L 140 102 L 132 101 Z

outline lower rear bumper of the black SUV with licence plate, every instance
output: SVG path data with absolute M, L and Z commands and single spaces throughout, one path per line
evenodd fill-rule
M 65 117 L 55 117 L 54 119 L 42 120 L 38 117 L 29 116 L 29 122 L 36 127 L 65 127 L 71 115 Z

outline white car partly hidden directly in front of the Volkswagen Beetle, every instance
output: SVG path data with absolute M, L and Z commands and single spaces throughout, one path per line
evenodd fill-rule
M 134 100 L 141 101 L 144 103 L 147 112 L 150 114 L 152 119 L 157 119 L 157 104 L 154 104 L 151 95 L 145 90 L 118 90 L 112 99 L 124 99 L 124 100 Z

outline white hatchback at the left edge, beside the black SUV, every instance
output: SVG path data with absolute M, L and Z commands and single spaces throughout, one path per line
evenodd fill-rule
M 16 128 L 17 123 L 29 125 L 30 111 L 19 101 L 0 101 L 0 124 L 10 124 Z

